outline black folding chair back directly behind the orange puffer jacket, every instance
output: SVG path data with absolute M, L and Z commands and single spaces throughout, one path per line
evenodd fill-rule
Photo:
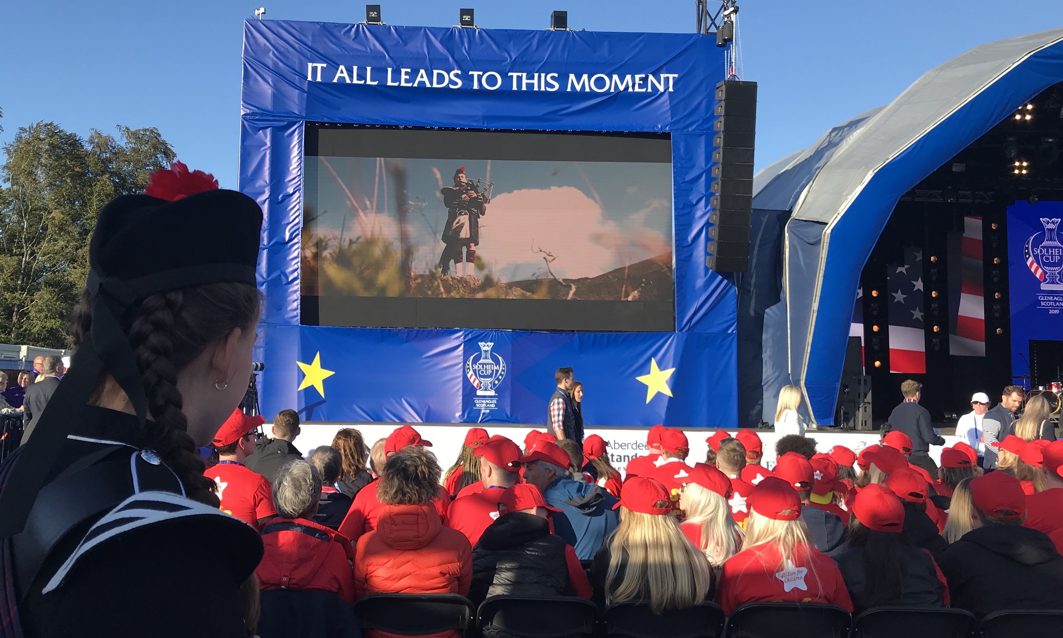
M 365 629 L 400 636 L 424 636 L 472 624 L 475 607 L 456 593 L 371 593 L 354 604 L 354 615 Z

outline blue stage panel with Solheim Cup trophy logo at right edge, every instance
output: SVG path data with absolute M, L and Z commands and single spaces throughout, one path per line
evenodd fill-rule
M 1063 202 L 1015 202 L 1008 208 L 1012 374 L 1029 374 L 1031 339 L 1063 339 L 1061 219 Z

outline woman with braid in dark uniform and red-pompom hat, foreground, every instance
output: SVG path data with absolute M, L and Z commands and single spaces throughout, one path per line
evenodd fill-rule
M 260 226 L 181 163 L 100 211 L 70 371 L 0 465 L 4 635 L 248 636 L 263 541 L 197 448 L 251 377 Z

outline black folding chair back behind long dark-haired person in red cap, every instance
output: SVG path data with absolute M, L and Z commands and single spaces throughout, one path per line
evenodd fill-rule
M 963 609 L 872 607 L 853 621 L 853 638 L 971 638 L 978 621 Z

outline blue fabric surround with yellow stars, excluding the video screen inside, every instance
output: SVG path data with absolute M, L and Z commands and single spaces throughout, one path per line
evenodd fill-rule
M 266 214 L 263 412 L 297 407 L 311 421 L 544 423 L 554 371 L 572 366 L 585 384 L 588 424 L 733 426 L 735 289 L 705 267 L 713 90 L 723 69 L 714 38 L 694 34 L 248 20 L 239 175 L 240 190 Z M 306 122 L 669 134 L 674 326 L 302 325 L 304 156 L 317 154 L 306 152 Z M 603 206 L 589 180 L 583 190 Z

